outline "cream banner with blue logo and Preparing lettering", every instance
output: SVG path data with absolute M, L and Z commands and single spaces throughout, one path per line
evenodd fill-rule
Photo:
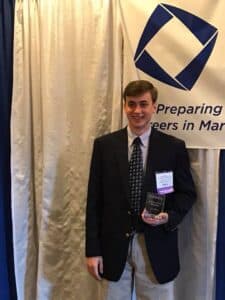
M 225 148 L 224 1 L 120 0 L 124 85 L 159 90 L 153 126 L 189 148 Z

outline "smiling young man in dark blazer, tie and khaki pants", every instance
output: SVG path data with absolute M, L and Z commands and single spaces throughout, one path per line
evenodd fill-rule
M 107 300 L 131 299 L 134 286 L 137 299 L 169 300 L 180 268 L 177 226 L 196 194 L 185 143 L 150 126 L 156 100 L 150 82 L 130 82 L 124 90 L 128 126 L 94 142 L 86 261 L 94 278 L 107 279 Z M 147 193 L 162 193 L 162 187 L 164 211 L 151 217 Z

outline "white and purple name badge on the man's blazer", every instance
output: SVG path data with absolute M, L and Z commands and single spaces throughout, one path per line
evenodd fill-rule
M 160 195 L 169 194 L 174 191 L 173 188 L 173 172 L 157 172 L 156 174 L 156 188 Z

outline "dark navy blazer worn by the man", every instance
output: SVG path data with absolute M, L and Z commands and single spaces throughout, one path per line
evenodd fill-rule
M 144 223 L 148 256 L 159 283 L 173 280 L 180 269 L 178 224 L 192 207 L 196 192 L 185 143 L 154 128 L 144 178 L 143 197 L 156 192 L 156 172 L 172 171 L 174 192 L 166 195 L 167 224 Z M 117 281 L 122 275 L 132 231 L 128 186 L 127 129 L 94 142 L 86 208 L 86 256 L 102 256 L 103 277 Z

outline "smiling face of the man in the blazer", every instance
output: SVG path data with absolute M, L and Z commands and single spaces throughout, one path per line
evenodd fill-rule
M 141 135 L 149 128 L 149 122 L 156 111 L 150 92 L 141 96 L 127 96 L 124 102 L 124 112 L 127 115 L 130 129 Z

